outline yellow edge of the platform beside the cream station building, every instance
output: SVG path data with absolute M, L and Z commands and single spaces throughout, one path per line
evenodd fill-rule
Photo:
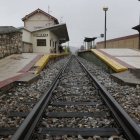
M 34 65 L 34 67 L 36 68 L 35 74 L 39 74 L 51 59 L 55 59 L 57 57 L 66 56 L 66 55 L 68 55 L 68 54 L 67 53 L 63 53 L 63 54 L 47 54 L 47 55 L 42 56 L 36 62 L 36 64 Z

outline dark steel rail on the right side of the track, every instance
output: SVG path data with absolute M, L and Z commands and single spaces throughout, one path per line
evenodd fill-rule
M 77 58 L 77 57 L 76 57 Z M 109 94 L 107 89 L 102 86 L 99 81 L 93 76 L 82 62 L 77 58 L 77 61 L 83 68 L 83 70 L 89 75 L 94 82 L 95 87 L 99 91 L 99 94 L 104 99 L 105 103 L 113 113 L 117 122 L 124 131 L 124 135 L 130 140 L 140 140 L 140 127 L 132 120 L 132 118 L 125 112 L 125 110 L 118 104 L 118 102 Z

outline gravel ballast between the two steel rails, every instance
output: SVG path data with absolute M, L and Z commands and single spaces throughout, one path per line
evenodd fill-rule
M 64 105 L 55 106 L 58 102 L 94 102 L 95 105 Z M 49 113 L 99 113 L 98 116 L 83 117 L 49 117 Z M 103 103 L 98 91 L 94 88 L 92 82 L 86 73 L 80 67 L 76 59 L 73 59 L 66 72 L 62 75 L 60 83 L 53 92 L 50 105 L 46 108 L 45 115 L 38 126 L 39 128 L 118 128 L 116 121 L 111 116 L 110 110 Z M 39 135 L 39 134 L 36 134 Z M 40 137 L 40 135 L 38 136 Z M 46 135 L 44 139 L 58 140 L 94 140 L 93 137 L 78 136 L 50 136 Z M 117 136 L 116 136 L 117 137 Z M 99 137 L 99 140 L 108 140 L 108 137 Z M 117 137 L 123 140 L 122 136 Z M 111 138 L 110 138 L 111 139 Z

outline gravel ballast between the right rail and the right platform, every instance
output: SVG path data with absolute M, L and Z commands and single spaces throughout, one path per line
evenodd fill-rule
M 79 58 L 87 69 L 104 85 L 107 91 L 116 99 L 116 101 L 124 108 L 124 110 L 140 124 L 140 87 L 132 87 L 129 85 L 121 85 L 115 82 L 109 73 L 101 67 L 94 65 L 85 59 Z

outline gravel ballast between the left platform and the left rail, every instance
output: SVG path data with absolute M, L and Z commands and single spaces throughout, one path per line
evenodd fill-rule
M 19 84 L 6 93 L 0 94 L 0 128 L 19 127 L 24 118 L 9 117 L 10 112 L 30 112 L 42 94 L 47 91 L 66 61 L 68 58 L 60 59 L 54 63 L 50 62 L 46 69 L 40 73 L 38 81 L 30 85 Z

